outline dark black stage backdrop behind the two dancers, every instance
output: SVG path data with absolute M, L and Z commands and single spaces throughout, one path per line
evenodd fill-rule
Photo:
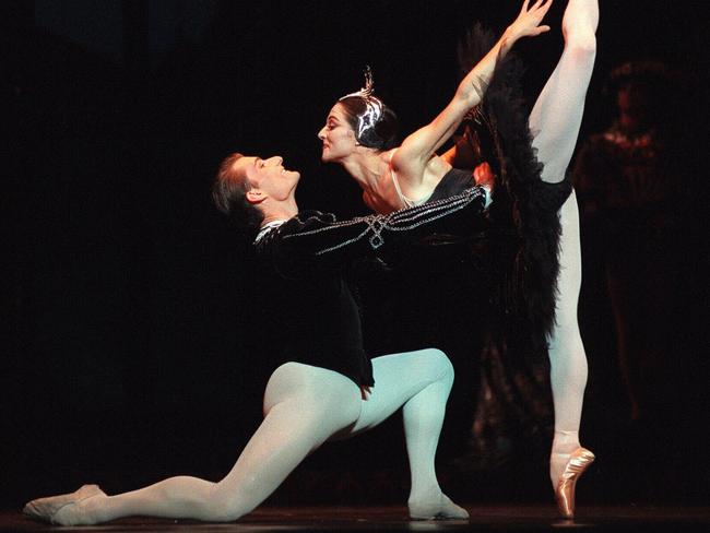
M 561 49 L 564 3 L 552 9 L 551 34 L 519 45 L 531 99 Z M 301 209 L 362 213 L 357 187 L 319 162 L 316 133 L 332 103 L 360 86 L 369 63 L 378 94 L 412 131 L 452 95 L 455 46 L 471 22 L 500 31 L 518 9 L 494 0 L 3 3 L 0 504 L 85 482 L 115 491 L 178 473 L 223 475 L 260 418 L 263 383 L 250 371 L 268 339 L 250 320 L 247 247 L 210 203 L 220 161 L 237 150 L 281 154 L 303 173 Z M 580 139 L 612 118 L 602 93 L 612 68 L 665 60 L 682 72 L 674 90 L 701 183 L 706 20 L 703 2 L 603 1 Z M 698 187 L 698 212 L 702 198 Z M 703 226 L 698 217 L 699 235 Z M 697 264 L 700 303 L 707 280 Z M 602 502 L 707 502 L 705 307 L 688 306 L 682 333 L 693 362 L 677 391 L 688 399 L 684 423 L 629 443 L 606 422 L 625 406 L 608 319 L 589 307 L 599 291 L 585 282 L 580 309 L 590 359 L 582 435 L 607 460 L 600 454 L 580 490 Z M 272 501 L 404 501 L 400 434 L 395 422 L 327 446 Z M 663 453 L 635 460 L 635 446 L 659 439 Z M 670 485 L 653 474 L 666 461 L 677 463 Z M 547 501 L 545 458 L 526 469 L 449 479 L 471 501 Z

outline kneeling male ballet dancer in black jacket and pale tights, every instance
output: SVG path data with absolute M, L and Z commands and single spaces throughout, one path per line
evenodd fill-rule
M 264 419 L 232 471 L 218 483 L 177 476 L 115 496 L 84 485 L 71 494 L 33 500 L 25 514 L 61 525 L 129 516 L 237 520 L 324 441 L 372 428 L 402 407 L 412 476 L 410 517 L 468 518 L 441 491 L 435 472 L 453 382 L 451 363 L 434 348 L 370 363 L 355 303 L 340 272 L 355 258 L 406 246 L 451 222 L 458 227 L 473 224 L 489 203 L 489 192 L 477 187 L 436 205 L 335 222 L 319 212 L 298 213 L 295 189 L 300 175 L 286 170 L 282 162 L 277 156 L 233 154 L 223 162 L 213 189 L 221 211 L 242 226 L 260 228 L 253 232 L 265 277 L 259 299 L 270 305 L 267 322 L 274 335 L 264 333 L 269 324 L 253 334 L 272 344 L 277 330 L 286 330 L 288 341 L 287 353 L 273 362 Z M 316 309 L 317 315 L 309 315 Z M 294 323 L 297 331 L 289 331 Z

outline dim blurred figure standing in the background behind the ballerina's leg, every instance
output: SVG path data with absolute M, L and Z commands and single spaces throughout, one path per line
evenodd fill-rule
M 608 298 L 628 416 L 637 422 L 673 418 L 687 358 L 690 147 L 681 134 L 678 80 L 659 61 L 613 70 L 605 91 L 617 116 L 582 144 L 573 169 L 582 246 L 605 284 L 599 289 Z

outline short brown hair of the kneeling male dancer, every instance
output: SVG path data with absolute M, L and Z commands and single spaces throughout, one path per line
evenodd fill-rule
M 212 183 L 212 201 L 237 227 L 255 230 L 263 222 L 263 213 L 247 201 L 247 192 L 251 190 L 247 176 L 234 169 L 241 157 L 244 155 L 234 153 L 222 162 Z

